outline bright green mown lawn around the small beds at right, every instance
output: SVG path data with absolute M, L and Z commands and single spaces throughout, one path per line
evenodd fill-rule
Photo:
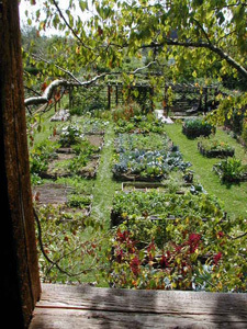
M 229 186 L 222 184 L 220 178 L 212 170 L 213 164 L 217 163 L 220 159 L 203 157 L 198 150 L 198 140 L 188 139 L 182 134 L 181 124 L 167 125 L 166 132 L 172 141 L 179 146 L 184 160 L 192 163 L 195 179 L 209 193 L 214 194 L 223 202 L 226 213 L 232 217 L 247 217 L 247 182 Z M 220 128 L 216 132 L 216 138 L 233 146 L 236 158 L 247 163 L 247 154 L 235 139 Z

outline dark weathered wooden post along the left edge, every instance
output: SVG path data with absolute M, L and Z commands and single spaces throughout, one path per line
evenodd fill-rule
M 41 285 L 30 183 L 19 1 L 0 0 L 1 321 L 26 328 Z

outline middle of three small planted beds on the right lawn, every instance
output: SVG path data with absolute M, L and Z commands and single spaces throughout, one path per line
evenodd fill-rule
M 233 147 L 218 140 L 203 140 L 198 143 L 199 151 L 207 158 L 233 157 L 235 150 Z

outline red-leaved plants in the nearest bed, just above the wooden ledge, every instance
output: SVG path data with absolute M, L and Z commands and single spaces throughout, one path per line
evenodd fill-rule
M 168 242 L 162 250 L 154 239 L 142 249 L 137 246 L 130 231 L 117 229 L 110 272 L 112 286 L 191 290 L 199 249 L 203 249 L 201 235 L 190 234 L 183 243 Z

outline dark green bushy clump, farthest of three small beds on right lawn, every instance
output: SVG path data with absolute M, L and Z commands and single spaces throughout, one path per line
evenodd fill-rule
M 189 118 L 183 123 L 182 133 L 188 138 L 206 137 L 214 133 L 214 127 L 203 118 Z

